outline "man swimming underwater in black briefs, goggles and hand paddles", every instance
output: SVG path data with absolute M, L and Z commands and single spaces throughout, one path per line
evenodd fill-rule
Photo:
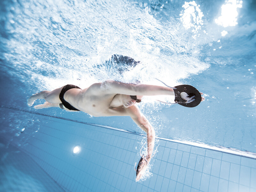
M 67 111 L 83 111 L 92 116 L 130 116 L 132 120 L 147 133 L 147 155 L 142 156 L 137 167 L 136 181 L 145 173 L 151 160 L 155 145 L 155 131 L 147 118 L 137 106 L 143 95 L 173 95 L 175 102 L 187 107 L 195 107 L 203 101 L 199 93 L 190 85 L 163 87 L 147 84 L 126 84 L 107 80 L 95 83 L 88 88 L 81 89 L 75 85 L 66 85 L 53 91 L 42 91 L 28 99 L 28 106 L 32 106 L 37 99 L 46 102 L 34 108 L 60 107 Z

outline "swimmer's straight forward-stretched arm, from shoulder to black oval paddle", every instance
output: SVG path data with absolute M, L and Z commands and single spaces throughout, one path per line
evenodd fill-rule
M 174 95 L 174 91 L 170 87 L 147 84 L 128 84 L 113 80 L 107 80 L 101 83 L 101 88 L 105 92 L 117 93 L 124 95 Z

